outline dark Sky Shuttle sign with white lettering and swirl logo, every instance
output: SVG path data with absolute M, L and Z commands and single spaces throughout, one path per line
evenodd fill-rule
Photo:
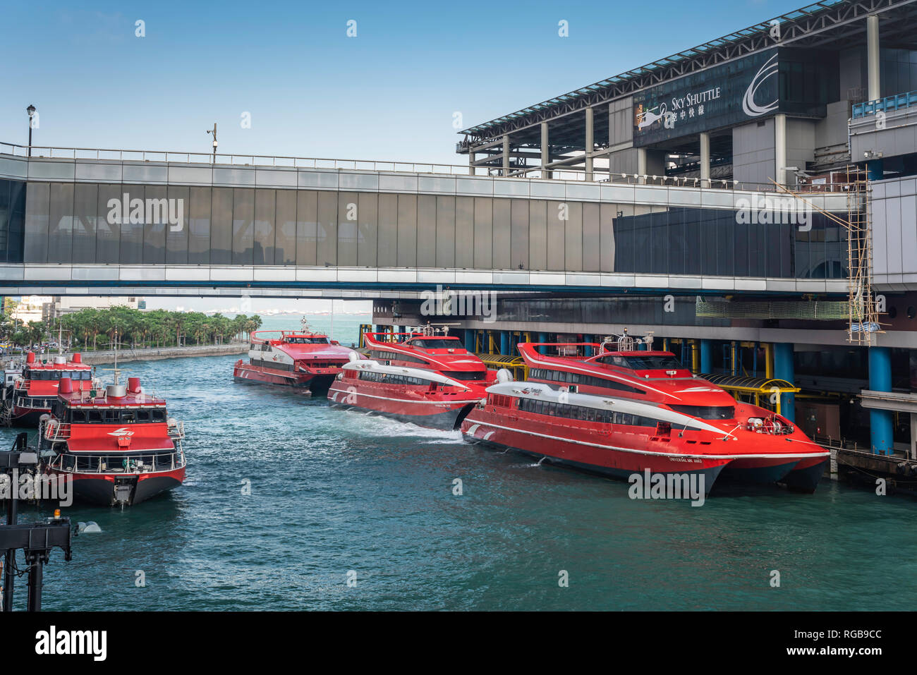
M 634 94 L 634 145 L 699 134 L 779 109 L 776 49 Z

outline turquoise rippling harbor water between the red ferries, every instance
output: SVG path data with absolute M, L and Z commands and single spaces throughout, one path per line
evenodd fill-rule
M 349 344 L 359 322 L 336 319 L 336 337 Z M 714 492 L 700 508 L 632 501 L 626 483 L 472 447 L 458 432 L 234 384 L 235 359 L 125 364 L 123 376 L 139 375 L 184 420 L 188 480 L 124 511 L 66 509 L 74 522 L 94 520 L 103 532 L 76 537 L 69 563 L 60 551 L 52 555 L 45 609 L 917 604 L 911 499 L 823 481 L 814 495 Z M 16 430 L 0 433 L 11 443 Z M 462 496 L 452 493 L 456 478 Z M 33 514 L 25 509 L 20 522 Z M 136 585 L 138 570 L 145 587 Z M 560 570 L 569 573 L 568 588 L 558 586 Z M 770 586 L 771 570 L 780 572 L 779 588 Z M 21 580 L 17 606 L 25 592 Z

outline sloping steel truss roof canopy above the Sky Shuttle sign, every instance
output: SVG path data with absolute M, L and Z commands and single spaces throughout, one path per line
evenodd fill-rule
M 917 35 L 917 0 L 822 0 L 814 5 L 802 7 L 780 17 L 769 19 L 738 30 L 723 38 L 713 39 L 690 50 L 653 61 L 645 66 L 623 72 L 597 83 L 562 94 L 536 105 L 518 110 L 509 115 L 497 117 L 490 122 L 469 127 L 459 134 L 470 137 L 458 144 L 458 152 L 467 152 L 474 147 L 507 133 L 521 132 L 547 120 L 582 113 L 584 108 L 607 103 L 616 98 L 633 94 L 650 86 L 675 80 L 691 72 L 702 71 L 713 65 L 734 61 L 747 54 L 765 50 L 776 45 L 830 49 L 851 47 L 866 41 L 866 27 L 863 19 L 878 14 L 883 21 L 879 24 L 882 42 L 894 44 L 896 40 L 906 44 L 914 43 Z M 778 21 L 780 40 L 775 42 L 769 31 L 772 22 Z M 601 131 L 607 130 L 608 121 L 595 116 L 595 138 L 602 138 Z M 604 127 L 601 127 L 601 125 Z M 566 123 L 565 123 L 565 126 Z M 581 127 L 580 127 L 581 128 Z M 535 138 L 537 129 L 520 135 L 516 142 L 531 142 L 540 145 Z M 552 128 L 551 145 L 555 145 Z M 581 136 L 581 131 L 576 132 Z M 607 136 L 607 134 L 606 134 Z M 569 138 L 561 136 L 569 140 Z M 515 138 L 514 138 L 515 140 Z M 558 140 L 560 140 L 558 138 Z M 561 144 L 563 140 L 561 140 Z M 582 144 L 576 149 L 582 149 Z

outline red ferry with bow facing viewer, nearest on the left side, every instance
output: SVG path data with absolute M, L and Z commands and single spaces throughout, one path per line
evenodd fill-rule
M 141 390 L 139 378 L 104 391 L 74 389 L 62 378 L 39 428 L 45 471 L 72 480 L 83 502 L 137 504 L 184 481 L 184 425 L 168 416 L 164 400 Z

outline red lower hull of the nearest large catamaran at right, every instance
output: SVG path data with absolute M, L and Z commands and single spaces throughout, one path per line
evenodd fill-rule
M 506 395 L 513 389 L 518 393 Z M 720 475 L 725 479 L 731 473 L 738 480 L 773 483 L 788 479 L 792 473 L 794 487 L 812 492 L 821 473 L 817 469 L 802 473 L 795 469 L 802 462 L 806 469 L 816 467 L 827 454 L 799 431 L 772 436 L 710 420 L 697 423 L 701 426 L 695 428 L 689 426 L 694 423 L 687 417 L 683 427 L 674 421 L 651 426 L 651 420 L 641 421 L 639 417 L 612 424 L 598 412 L 590 417 L 559 417 L 523 410 L 520 399 L 515 397 L 519 394 L 525 394 L 529 403 L 542 399 L 546 404 L 569 401 L 574 407 L 593 406 L 583 410 L 604 409 L 610 413 L 627 405 L 623 399 L 581 394 L 559 399 L 557 392 L 542 384 L 497 385 L 489 390 L 487 404 L 475 406 L 461 422 L 463 437 L 624 479 L 645 470 L 662 474 L 702 472 L 707 491 Z M 640 415 L 652 415 L 653 410 L 665 415 L 665 411 L 650 406 L 645 406 Z

